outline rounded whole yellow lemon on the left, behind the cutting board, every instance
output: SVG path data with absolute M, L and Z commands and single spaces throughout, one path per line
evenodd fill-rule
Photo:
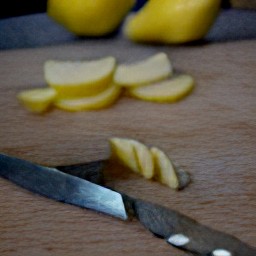
M 135 0 L 48 0 L 47 14 L 79 36 L 113 32 Z

